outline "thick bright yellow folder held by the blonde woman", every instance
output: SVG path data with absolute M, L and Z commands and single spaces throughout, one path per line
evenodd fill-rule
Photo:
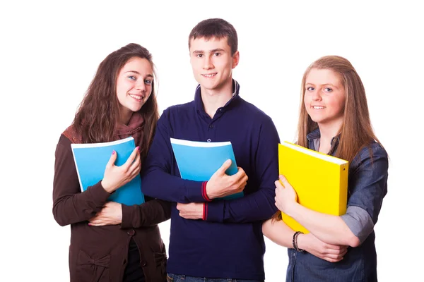
M 346 213 L 348 161 L 285 141 L 278 144 L 278 168 L 302 206 L 336 216 Z M 283 212 L 281 216 L 294 231 L 309 233 L 292 217 Z

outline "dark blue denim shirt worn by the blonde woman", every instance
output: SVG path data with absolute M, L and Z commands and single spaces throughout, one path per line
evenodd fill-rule
M 307 135 L 310 149 L 318 149 L 316 146 L 319 144 L 319 137 L 319 129 Z M 334 137 L 331 141 L 331 155 L 336 153 L 337 146 L 338 137 Z M 377 223 L 383 198 L 387 194 L 388 167 L 387 152 L 377 142 L 372 142 L 356 154 L 349 164 L 348 211 L 342 219 L 360 238 L 361 244 L 358 247 L 348 247 L 347 254 L 340 262 L 327 262 L 308 252 L 288 249 L 286 281 L 377 281 L 373 226 Z M 367 229 L 370 231 L 364 231 Z

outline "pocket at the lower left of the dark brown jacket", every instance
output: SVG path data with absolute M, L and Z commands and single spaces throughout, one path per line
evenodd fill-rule
M 80 250 L 76 260 L 76 277 L 78 282 L 106 282 L 109 275 L 110 255 L 90 257 Z

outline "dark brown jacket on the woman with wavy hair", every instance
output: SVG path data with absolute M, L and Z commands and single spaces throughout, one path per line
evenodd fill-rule
M 100 182 L 81 192 L 71 140 L 61 135 L 54 164 L 53 215 L 61 226 L 71 225 L 71 282 L 122 281 L 131 237 L 139 247 L 146 281 L 166 281 L 167 256 L 157 224 L 170 219 L 170 203 L 146 197 L 144 204 L 122 205 L 120 225 L 88 226 L 109 196 Z

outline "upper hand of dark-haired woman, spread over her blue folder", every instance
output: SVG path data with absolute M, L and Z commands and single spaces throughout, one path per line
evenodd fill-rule
M 117 152 L 113 151 L 105 168 L 105 174 L 102 179 L 102 187 L 111 193 L 129 183 L 137 174 L 140 173 L 141 161 L 139 147 L 136 147 L 122 166 L 115 166 Z

